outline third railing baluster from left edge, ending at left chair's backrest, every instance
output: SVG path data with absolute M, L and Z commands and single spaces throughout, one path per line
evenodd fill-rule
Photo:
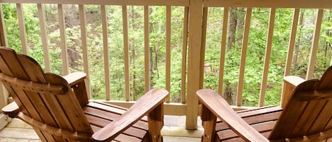
M 42 4 L 37 4 L 38 18 L 40 25 L 40 37 L 42 38 L 42 51 L 44 53 L 45 72 L 51 72 L 50 54 L 47 46 L 47 32 L 45 25 L 45 8 Z

